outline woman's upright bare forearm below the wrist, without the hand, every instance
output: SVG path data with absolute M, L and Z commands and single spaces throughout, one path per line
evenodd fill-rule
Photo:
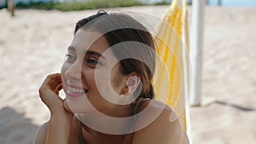
M 70 134 L 71 121 L 61 114 L 51 114 L 46 144 L 67 144 Z

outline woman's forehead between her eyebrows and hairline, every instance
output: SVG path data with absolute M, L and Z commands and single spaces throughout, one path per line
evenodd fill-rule
M 71 46 L 76 48 L 79 53 L 84 53 L 90 49 L 102 54 L 109 48 L 106 37 L 103 37 L 102 33 L 90 29 L 79 29 L 73 37 Z

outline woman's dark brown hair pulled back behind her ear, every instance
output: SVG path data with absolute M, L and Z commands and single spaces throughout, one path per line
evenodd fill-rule
M 152 85 L 155 68 L 154 38 L 141 23 L 127 14 L 108 14 L 100 10 L 97 14 L 79 20 L 74 33 L 80 28 L 101 32 L 110 46 L 119 44 L 119 48 L 126 48 L 113 50 L 113 54 L 119 60 L 120 71 L 124 75 L 137 72 L 141 78 L 142 87 L 137 88 L 139 90 L 135 95 L 154 98 Z

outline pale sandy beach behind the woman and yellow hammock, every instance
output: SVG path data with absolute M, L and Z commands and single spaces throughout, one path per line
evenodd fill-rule
M 158 17 L 166 9 L 122 8 Z M 17 10 L 11 18 L 0 9 L 0 144 L 32 143 L 49 119 L 38 88 L 46 75 L 60 72 L 75 22 L 95 13 Z M 255 14 L 253 8 L 206 8 L 202 106 L 190 107 L 194 144 L 256 142 Z

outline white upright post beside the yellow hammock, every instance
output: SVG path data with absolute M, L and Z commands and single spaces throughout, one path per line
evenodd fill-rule
M 192 21 L 190 35 L 190 105 L 201 105 L 201 71 L 202 71 L 202 46 L 204 27 L 205 0 L 194 0 L 192 3 Z

